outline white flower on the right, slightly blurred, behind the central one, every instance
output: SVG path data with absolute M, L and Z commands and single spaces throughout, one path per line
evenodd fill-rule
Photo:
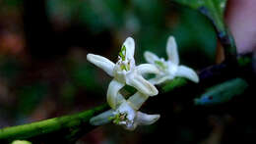
M 144 57 L 150 64 L 156 65 L 160 74 L 157 74 L 155 78 L 149 81 L 153 84 L 160 84 L 166 80 L 171 80 L 176 76 L 186 77 L 194 82 L 198 82 L 199 78 L 196 72 L 186 66 L 179 66 L 179 56 L 177 51 L 177 45 L 173 36 L 169 36 L 166 45 L 166 54 L 168 60 L 159 58 L 152 52 L 145 52 Z

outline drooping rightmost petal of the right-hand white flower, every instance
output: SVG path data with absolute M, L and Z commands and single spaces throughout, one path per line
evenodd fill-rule
M 175 76 L 185 77 L 196 83 L 199 81 L 197 73 L 185 66 L 179 66 Z

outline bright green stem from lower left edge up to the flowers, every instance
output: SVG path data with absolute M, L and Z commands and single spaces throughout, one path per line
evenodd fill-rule
M 57 133 L 62 130 L 66 133 L 66 135 L 61 135 L 62 139 L 71 141 L 81 130 L 89 131 L 94 128 L 89 123 L 89 120 L 106 109 L 107 105 L 105 104 L 74 115 L 6 127 L 0 129 L 0 143 L 11 142 L 15 139 L 30 139 L 44 134 Z

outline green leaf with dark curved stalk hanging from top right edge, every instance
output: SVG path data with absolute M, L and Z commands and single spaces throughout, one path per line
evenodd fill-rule
M 231 33 L 224 24 L 226 0 L 173 0 L 174 2 L 198 10 L 215 25 L 218 37 L 224 46 L 225 60 L 235 62 L 236 46 Z

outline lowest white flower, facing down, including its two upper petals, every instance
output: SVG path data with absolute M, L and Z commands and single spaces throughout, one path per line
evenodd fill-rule
M 160 115 L 147 115 L 138 110 L 142 104 L 149 98 L 137 91 L 130 96 L 128 100 L 118 93 L 118 106 L 116 109 L 108 110 L 90 120 L 93 125 L 101 125 L 113 121 L 113 123 L 122 125 L 125 129 L 134 130 L 138 125 L 149 125 L 160 119 Z

